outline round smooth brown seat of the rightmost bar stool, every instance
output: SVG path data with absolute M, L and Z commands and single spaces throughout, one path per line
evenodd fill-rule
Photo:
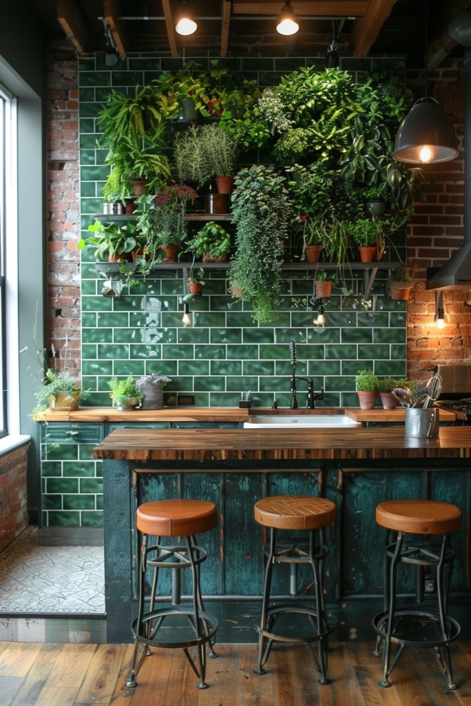
M 376 522 L 396 532 L 444 534 L 461 525 L 456 505 L 434 500 L 389 500 L 376 506 Z

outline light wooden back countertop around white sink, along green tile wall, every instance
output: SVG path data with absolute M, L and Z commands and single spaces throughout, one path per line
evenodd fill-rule
M 355 421 L 375 421 L 379 424 L 404 421 L 405 409 L 360 409 L 359 407 L 317 409 L 239 409 L 239 407 L 164 407 L 163 409 L 133 409 L 121 412 L 116 407 L 79 407 L 75 412 L 58 409 L 38 412 L 35 421 L 249 421 L 253 414 L 342 414 Z M 440 410 L 441 421 L 455 421 L 455 414 Z

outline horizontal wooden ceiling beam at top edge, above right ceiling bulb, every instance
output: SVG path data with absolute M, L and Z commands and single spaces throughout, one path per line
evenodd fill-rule
M 292 0 L 294 12 L 299 16 L 314 17 L 363 17 L 368 12 L 370 0 Z M 282 8 L 282 0 L 258 0 L 248 2 L 235 0 L 232 4 L 234 15 L 276 16 Z

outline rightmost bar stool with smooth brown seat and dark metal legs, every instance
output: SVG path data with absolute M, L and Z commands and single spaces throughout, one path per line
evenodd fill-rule
M 375 654 L 383 657 L 381 686 L 391 686 L 389 676 L 407 645 L 434 647 L 446 674 L 448 689 L 455 689 L 451 670 L 450 642 L 460 633 L 460 625 L 447 615 L 453 557 L 450 533 L 461 525 L 461 510 L 455 505 L 433 500 L 391 500 L 376 507 L 376 522 L 385 527 L 384 604 L 373 619 L 377 633 Z M 414 535 L 410 537 L 409 535 Z M 441 535 L 441 541 L 429 541 Z M 416 600 L 424 599 L 424 568 L 436 573 L 436 610 L 418 609 L 407 604 L 396 610 L 396 572 L 398 563 L 416 567 Z M 446 575 L 445 575 L 446 574 Z M 433 585 L 433 575 L 432 575 Z M 428 606 L 427 606 L 428 608 Z M 434 608 L 434 606 L 431 606 Z M 391 643 L 399 645 L 390 664 Z

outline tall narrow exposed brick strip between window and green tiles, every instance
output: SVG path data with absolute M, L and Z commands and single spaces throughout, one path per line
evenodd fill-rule
M 80 340 L 80 175 L 78 66 L 66 40 L 47 62 L 47 346 L 49 364 L 78 373 Z

